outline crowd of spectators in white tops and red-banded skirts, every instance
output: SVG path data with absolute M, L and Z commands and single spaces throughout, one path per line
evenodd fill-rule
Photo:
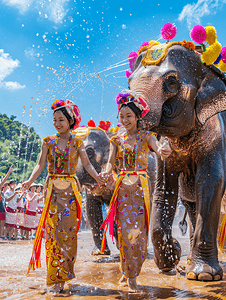
M 43 185 L 33 183 L 29 190 L 23 190 L 16 179 L 7 181 L 15 170 L 10 167 L 0 183 L 0 239 L 34 239 L 43 210 Z

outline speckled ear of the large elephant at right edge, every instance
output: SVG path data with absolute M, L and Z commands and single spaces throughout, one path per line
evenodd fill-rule
M 226 80 L 223 73 L 216 74 L 216 70 L 213 71 L 202 80 L 196 97 L 195 111 L 202 125 L 212 116 L 226 110 Z

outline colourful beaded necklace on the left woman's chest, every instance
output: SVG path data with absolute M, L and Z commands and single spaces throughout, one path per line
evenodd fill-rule
M 56 144 L 54 147 L 54 166 L 55 170 L 57 170 L 57 173 L 62 173 L 65 165 L 65 158 L 68 156 L 68 153 L 70 151 L 70 144 L 72 140 L 72 135 L 70 135 L 69 140 L 67 142 L 66 148 L 63 152 L 63 154 L 58 150 L 57 145 L 58 145 L 58 140 L 59 140 L 59 133 L 56 134 L 57 139 L 56 139 Z M 70 158 L 69 158 L 70 160 Z M 69 165 L 69 163 L 68 163 Z

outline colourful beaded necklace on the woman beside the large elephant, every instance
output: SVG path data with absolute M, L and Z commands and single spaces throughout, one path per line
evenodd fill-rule
M 137 137 L 135 140 L 135 143 L 133 145 L 133 150 L 129 149 L 128 146 L 126 147 L 127 144 L 127 132 L 123 136 L 123 168 L 126 169 L 132 169 L 136 167 L 136 160 L 137 160 L 137 148 L 138 148 L 138 142 L 140 140 L 140 131 L 137 131 Z

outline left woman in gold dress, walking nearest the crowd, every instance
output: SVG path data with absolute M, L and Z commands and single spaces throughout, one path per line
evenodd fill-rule
M 77 105 L 69 100 L 52 103 L 53 125 L 57 134 L 47 136 L 42 143 L 41 155 L 34 171 L 23 186 L 29 188 L 48 160 L 45 185 L 45 204 L 36 231 L 30 268 L 40 267 L 41 239 L 46 223 L 47 286 L 60 292 L 66 281 L 75 277 L 77 233 L 81 221 L 81 196 L 76 177 L 78 158 L 99 184 L 104 180 L 91 165 L 82 139 L 77 131 L 81 115 Z

